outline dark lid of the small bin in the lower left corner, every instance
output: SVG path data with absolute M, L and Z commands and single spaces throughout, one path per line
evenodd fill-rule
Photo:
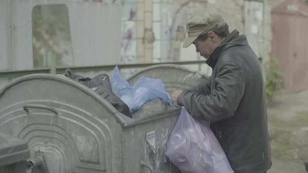
M 28 143 L 0 133 L 0 166 L 17 163 L 29 158 Z

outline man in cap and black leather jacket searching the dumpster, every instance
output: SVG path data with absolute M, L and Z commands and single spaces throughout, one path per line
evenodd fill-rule
M 212 67 L 212 76 L 190 90 L 171 94 L 210 127 L 236 173 L 263 173 L 272 165 L 264 83 L 258 58 L 244 35 L 229 33 L 216 9 L 196 13 L 187 22 L 191 44 Z

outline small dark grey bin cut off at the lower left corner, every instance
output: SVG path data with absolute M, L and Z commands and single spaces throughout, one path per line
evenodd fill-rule
M 0 133 L 0 172 L 26 172 L 29 157 L 30 150 L 25 140 Z

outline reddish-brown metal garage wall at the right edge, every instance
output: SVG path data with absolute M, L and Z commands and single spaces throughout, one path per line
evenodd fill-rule
M 308 5 L 285 1 L 273 9 L 272 56 L 281 62 L 285 92 L 308 89 Z

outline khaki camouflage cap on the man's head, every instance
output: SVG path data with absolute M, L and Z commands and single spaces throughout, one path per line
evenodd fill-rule
M 191 45 L 199 35 L 206 34 L 209 31 L 222 27 L 225 24 L 219 11 L 215 8 L 204 9 L 191 17 L 186 23 L 187 38 L 184 41 L 183 48 Z

